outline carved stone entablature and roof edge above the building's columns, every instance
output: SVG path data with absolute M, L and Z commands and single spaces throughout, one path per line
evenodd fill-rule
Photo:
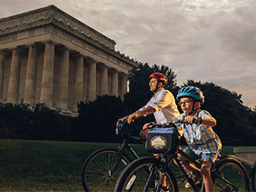
M 51 33 L 51 36 L 49 36 L 49 33 Z M 8 46 L 8 42 L 15 46 L 14 41 L 20 39 L 26 44 L 30 43 L 31 39 L 42 42 L 46 36 L 47 38 L 56 36 L 58 37 L 55 39 L 58 41 L 57 43 L 64 43 L 64 45 L 65 41 L 71 42 L 68 47 L 71 47 L 74 51 L 77 48 L 78 52 L 81 52 L 79 50 L 81 48 L 85 49 L 87 52 L 123 68 L 128 68 L 129 65 L 136 66 L 130 58 L 120 52 L 115 52 L 115 42 L 112 39 L 103 36 L 54 6 L 31 11 L 31 14 L 28 12 L 0 19 L 0 42 L 5 43 L 5 46 Z M 55 40 L 53 39 L 53 42 Z M 128 63 L 127 66 L 126 63 Z

